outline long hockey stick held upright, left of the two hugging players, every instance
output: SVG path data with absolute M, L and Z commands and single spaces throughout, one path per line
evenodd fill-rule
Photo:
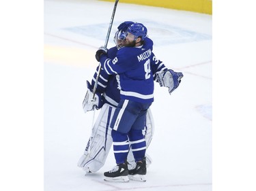
M 110 33 L 111 33 L 111 28 L 112 28 L 112 25 L 113 25 L 113 20 L 114 20 L 114 17 L 115 17 L 115 10 L 117 9 L 118 1 L 119 0 L 115 0 L 115 5 L 114 5 L 114 8 L 113 8 L 111 20 L 109 22 L 109 30 L 108 30 L 108 33 L 106 34 L 106 40 L 105 40 L 104 48 L 106 48 L 106 46 L 108 45 L 108 42 L 109 42 L 109 36 L 110 36 Z M 96 88 L 97 88 L 97 85 L 98 85 L 98 78 L 100 77 L 100 70 L 101 70 L 101 65 L 99 65 L 99 67 L 98 67 L 96 81 L 94 83 L 93 97 L 92 97 L 93 100 L 94 100 L 95 94 L 96 94 Z M 95 109 L 95 106 L 94 106 L 94 116 L 95 116 L 95 110 L 96 109 Z M 92 128 L 94 128 L 94 117 L 93 117 L 93 120 L 92 120 Z M 87 142 L 87 145 L 85 147 L 85 152 L 84 152 L 85 155 L 87 155 L 89 153 L 89 148 L 90 148 L 90 145 L 91 145 L 91 139 L 92 138 L 93 137 L 90 136 L 90 138 L 89 138 L 89 140 Z

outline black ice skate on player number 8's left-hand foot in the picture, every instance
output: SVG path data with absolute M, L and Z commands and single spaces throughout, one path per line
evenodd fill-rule
M 111 171 L 104 173 L 105 181 L 128 182 L 127 164 L 117 164 Z

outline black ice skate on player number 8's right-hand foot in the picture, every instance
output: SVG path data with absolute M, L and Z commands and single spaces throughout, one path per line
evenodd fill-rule
M 137 162 L 135 169 L 128 171 L 128 177 L 134 181 L 146 181 L 145 175 L 147 173 L 146 158 L 144 157 L 141 162 Z

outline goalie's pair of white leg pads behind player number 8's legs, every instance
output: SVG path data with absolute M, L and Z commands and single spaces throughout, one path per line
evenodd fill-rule
M 115 107 L 105 103 L 100 109 L 98 119 L 92 128 L 91 137 L 85 148 L 83 156 L 77 163 L 78 167 L 81 167 L 86 172 L 95 173 L 103 167 L 106 157 L 109 154 L 109 150 L 112 146 L 111 128 L 110 122 L 115 112 Z M 154 121 L 150 109 L 147 110 L 146 125 L 144 128 L 145 141 L 147 147 L 152 141 L 154 134 Z M 151 158 L 146 154 L 147 165 L 151 163 Z M 132 151 L 128 153 L 128 169 L 134 169 L 136 162 L 134 161 Z

